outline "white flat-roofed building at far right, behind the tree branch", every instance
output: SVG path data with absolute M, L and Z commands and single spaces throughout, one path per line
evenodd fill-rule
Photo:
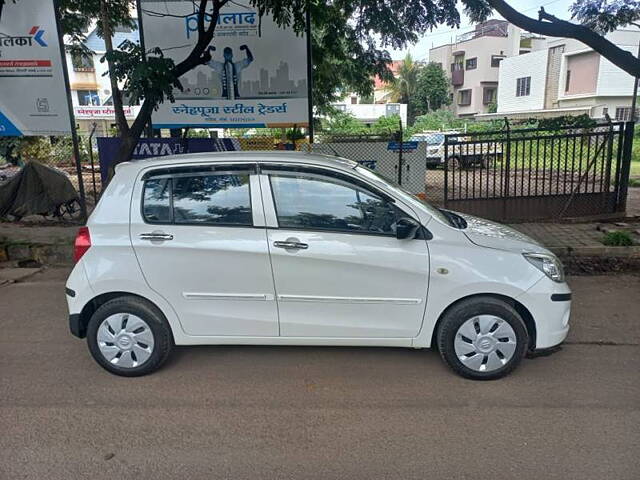
M 635 54 L 640 31 L 617 30 L 607 39 Z M 548 39 L 545 48 L 506 58 L 500 65 L 498 109 L 479 119 L 588 114 L 626 121 L 634 79 L 583 43 Z

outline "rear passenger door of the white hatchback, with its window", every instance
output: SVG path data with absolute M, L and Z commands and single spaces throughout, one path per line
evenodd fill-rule
M 254 171 L 255 165 L 156 170 L 134 189 L 130 233 L 138 262 L 188 335 L 279 334 Z

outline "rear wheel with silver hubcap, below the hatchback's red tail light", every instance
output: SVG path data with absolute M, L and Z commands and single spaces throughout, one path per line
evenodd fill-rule
M 166 361 L 173 347 L 164 315 L 137 297 L 119 297 L 98 308 L 87 326 L 93 358 L 105 370 L 125 377 L 151 373 Z

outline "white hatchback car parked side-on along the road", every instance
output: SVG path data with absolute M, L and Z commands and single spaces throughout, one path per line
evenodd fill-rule
M 360 345 L 436 347 L 493 379 L 569 330 L 551 252 L 336 157 L 122 164 L 75 256 L 71 332 L 118 375 L 156 370 L 173 345 Z

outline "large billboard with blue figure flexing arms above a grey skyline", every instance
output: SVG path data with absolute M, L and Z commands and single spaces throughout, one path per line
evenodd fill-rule
M 146 49 L 159 47 L 175 63 L 184 60 L 198 39 L 197 4 L 141 0 Z M 260 18 L 239 0 L 222 8 L 208 50 L 211 61 L 180 78 L 184 91 L 174 92 L 175 103 L 153 113 L 155 128 L 308 124 L 304 36 Z

